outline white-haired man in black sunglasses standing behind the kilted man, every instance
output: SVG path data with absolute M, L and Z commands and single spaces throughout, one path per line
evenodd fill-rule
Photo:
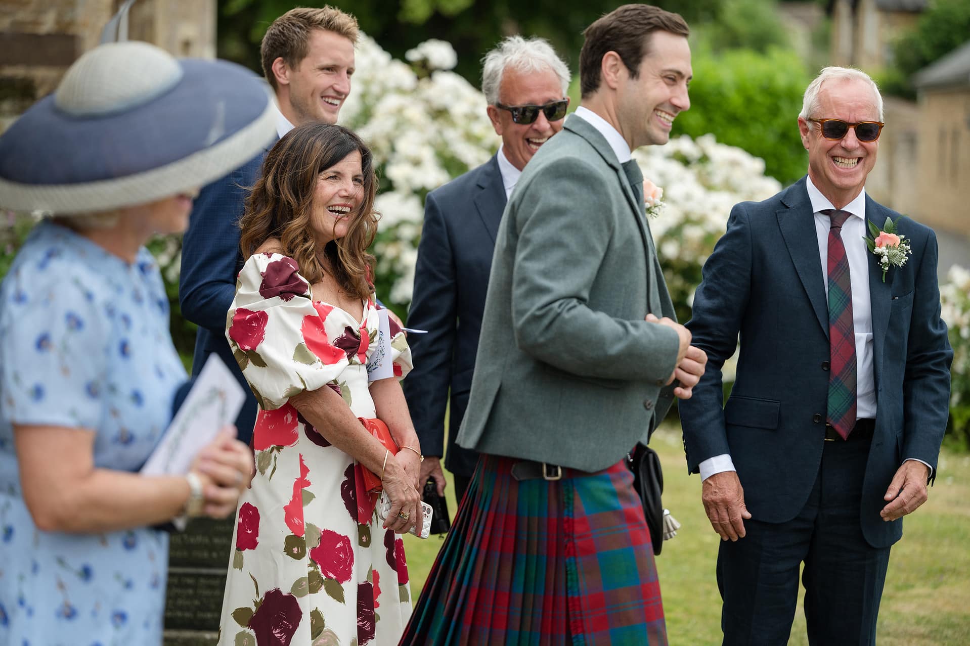
M 485 164 L 428 194 L 407 314 L 407 342 L 414 370 L 404 397 L 425 454 L 421 481 L 435 479 L 444 492 L 440 458 L 444 411 L 451 393 L 445 467 L 455 476 L 462 500 L 478 454 L 455 443 L 469 403 L 485 293 L 492 269 L 501 212 L 522 169 L 566 116 L 569 70 L 539 38 L 511 36 L 483 59 L 482 91 L 489 118 L 501 136 L 499 151 Z

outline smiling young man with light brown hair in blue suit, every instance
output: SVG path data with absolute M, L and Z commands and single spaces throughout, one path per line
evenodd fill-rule
M 274 20 L 263 36 L 260 55 L 263 74 L 273 86 L 279 108 L 279 137 L 307 121 L 337 122 L 340 107 L 350 93 L 356 42 L 357 19 L 332 7 L 297 8 Z M 192 374 L 202 370 L 212 352 L 233 371 L 247 394 L 236 420 L 243 441 L 252 436 L 256 400 L 249 394 L 226 340 L 226 313 L 244 262 L 237 223 L 247 188 L 259 177 L 265 154 L 260 153 L 199 193 L 182 239 L 178 282 L 182 314 L 199 326 Z

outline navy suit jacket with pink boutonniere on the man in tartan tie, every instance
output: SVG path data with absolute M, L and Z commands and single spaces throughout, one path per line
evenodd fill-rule
M 874 547 L 902 535 L 880 516 L 904 459 L 936 469 L 947 425 L 953 350 L 940 319 L 932 230 L 871 198 L 866 219 L 887 217 L 912 245 L 904 267 L 870 254 L 876 430 L 863 483 L 861 529 Z M 822 460 L 828 393 L 828 306 L 805 179 L 760 203 L 731 210 L 727 233 L 704 264 L 687 327 L 709 363 L 694 397 L 681 402 L 688 469 L 729 453 L 745 502 L 760 521 L 791 520 Z M 723 404 L 721 368 L 740 333 L 737 377 Z

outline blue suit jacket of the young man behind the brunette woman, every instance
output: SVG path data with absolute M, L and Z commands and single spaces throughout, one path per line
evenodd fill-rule
M 233 372 L 246 392 L 246 401 L 236 420 L 239 438 L 244 442 L 252 436 L 257 406 L 226 340 L 226 314 L 236 296 L 236 276 L 243 263 L 239 219 L 245 208 L 247 189 L 259 178 L 265 156 L 264 150 L 199 193 L 182 238 L 178 279 L 182 314 L 199 326 L 192 375 L 202 370 L 212 352 Z

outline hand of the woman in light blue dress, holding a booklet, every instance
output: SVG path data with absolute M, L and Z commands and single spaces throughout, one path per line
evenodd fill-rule
M 203 511 L 212 518 L 225 518 L 236 511 L 242 491 L 255 473 L 249 447 L 236 439 L 236 428 L 227 426 L 199 451 L 192 470 L 203 480 Z

